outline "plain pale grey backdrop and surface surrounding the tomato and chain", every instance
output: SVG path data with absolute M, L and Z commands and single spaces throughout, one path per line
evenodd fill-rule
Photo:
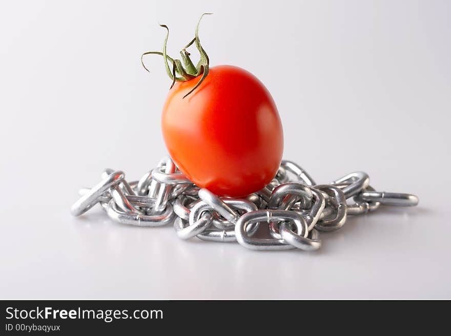
M 449 3 L 245 3 L 2 4 L 1 298 L 451 299 Z M 176 54 L 204 11 L 211 64 L 248 69 L 273 94 L 285 158 L 318 182 L 365 171 L 420 206 L 350 218 L 316 253 L 180 241 L 100 208 L 72 218 L 105 167 L 137 179 L 166 154 L 170 81 L 139 55 L 161 48 L 157 22 Z

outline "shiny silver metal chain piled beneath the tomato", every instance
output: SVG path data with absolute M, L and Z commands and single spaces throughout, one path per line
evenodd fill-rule
M 199 188 L 169 157 L 139 181 L 128 183 L 124 172 L 112 169 L 101 176 L 93 188 L 79 191 L 72 215 L 99 203 L 120 224 L 174 223 L 181 239 L 238 242 L 254 250 L 316 250 L 321 247 L 319 232 L 341 228 L 347 216 L 374 212 L 381 205 L 418 204 L 415 195 L 375 191 L 363 172 L 316 184 L 299 165 L 286 160 L 271 183 L 241 199 L 221 198 Z

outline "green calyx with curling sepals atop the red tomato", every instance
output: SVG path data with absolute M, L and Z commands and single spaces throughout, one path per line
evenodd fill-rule
M 202 75 L 202 77 L 197 82 L 197 84 L 194 86 L 194 88 L 191 89 L 190 92 L 188 92 L 185 96 L 183 96 L 183 98 L 185 98 L 190 93 L 192 93 L 194 90 L 196 90 L 197 87 L 200 85 L 200 83 L 208 76 L 208 73 L 210 71 L 210 59 L 208 58 L 208 55 L 205 52 L 205 50 L 202 48 L 202 46 L 200 44 L 200 39 L 199 39 L 200 20 L 202 19 L 202 17 L 204 15 L 209 15 L 209 14 L 212 14 L 212 13 L 203 13 L 200 16 L 199 21 L 197 22 L 197 26 L 196 26 L 195 37 L 190 41 L 189 44 L 187 44 L 180 51 L 180 56 L 181 56 L 181 59 L 182 59 L 183 64 L 185 66 L 182 65 L 182 62 L 180 61 L 180 59 L 174 59 L 174 58 L 170 57 L 166 53 L 166 46 L 168 44 L 168 37 L 169 37 L 169 28 L 166 25 L 160 25 L 160 27 L 165 28 L 166 31 L 167 31 L 166 32 L 165 43 L 163 44 L 163 51 L 162 52 L 159 52 L 159 51 L 148 51 L 148 52 L 145 52 L 145 53 L 143 53 L 141 55 L 141 65 L 148 72 L 150 72 L 150 71 L 144 65 L 144 61 L 143 61 L 142 58 L 145 55 L 160 55 L 160 56 L 163 56 L 163 60 L 165 61 L 166 73 L 168 74 L 168 76 L 172 80 L 172 84 L 171 84 L 171 87 L 169 89 L 172 89 L 172 87 L 174 86 L 176 81 L 183 82 L 183 81 L 191 80 L 193 78 L 196 78 L 196 77 Z M 190 53 L 187 51 L 187 49 L 193 43 L 195 44 L 195 46 L 196 46 L 196 48 L 197 48 L 197 50 L 199 51 L 199 54 L 200 54 L 200 59 L 197 62 L 196 66 L 194 66 L 193 62 L 191 61 Z M 171 62 L 171 64 L 172 64 L 172 70 L 171 70 L 171 67 L 169 66 L 169 62 Z M 179 76 L 177 76 L 177 74 Z

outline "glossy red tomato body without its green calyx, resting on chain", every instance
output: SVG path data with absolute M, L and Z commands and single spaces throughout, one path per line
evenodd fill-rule
M 283 131 L 271 94 L 251 73 L 217 66 L 186 98 L 200 76 L 177 82 L 162 112 L 162 133 L 179 170 L 219 196 L 260 190 L 277 173 Z

